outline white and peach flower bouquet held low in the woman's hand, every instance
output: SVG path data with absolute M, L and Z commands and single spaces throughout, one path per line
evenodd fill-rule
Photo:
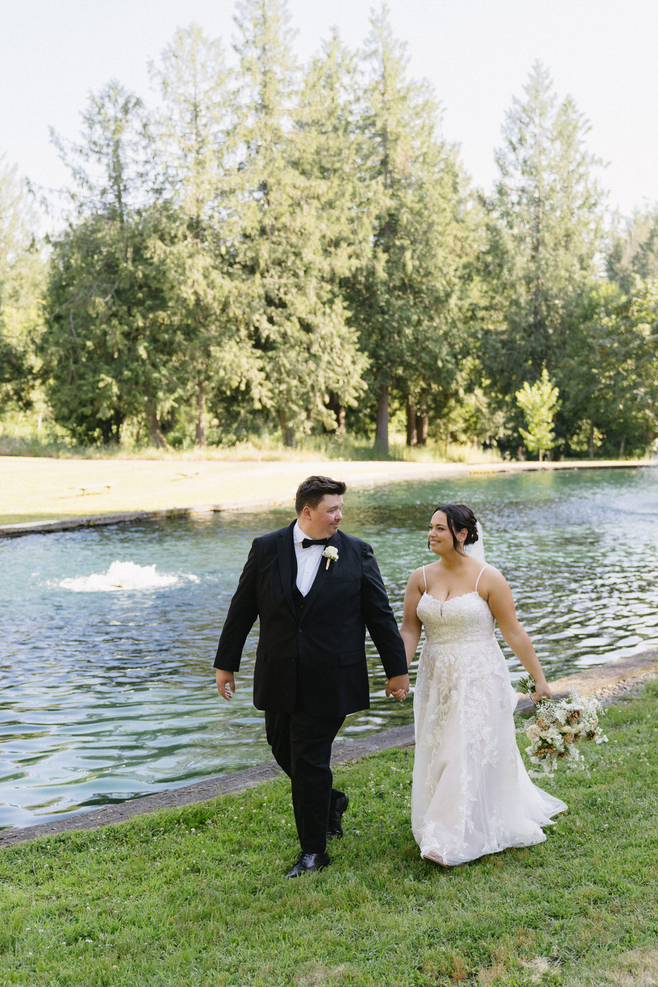
M 535 682 L 526 675 L 516 689 L 532 695 Z M 530 740 L 526 754 L 531 764 L 540 765 L 542 770 L 530 770 L 533 778 L 552 778 L 558 761 L 564 761 L 570 769 L 587 770 L 585 758 L 578 750 L 581 740 L 594 740 L 607 743 L 608 737 L 599 726 L 599 718 L 606 711 L 594 696 L 583 697 L 576 688 L 571 689 L 566 699 L 541 699 L 535 704 L 535 713 L 519 729 Z

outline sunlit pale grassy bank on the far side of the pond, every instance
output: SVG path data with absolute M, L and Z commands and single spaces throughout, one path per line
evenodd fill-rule
M 187 472 L 182 472 L 182 465 Z M 193 469 L 197 466 L 198 469 Z M 363 489 L 403 481 L 436 479 L 440 482 L 456 477 L 487 474 L 655 469 L 656 466 L 658 463 L 650 460 L 569 460 L 548 463 L 201 460 L 183 464 L 158 460 L 52 460 L 45 457 L 3 456 L 0 457 L 0 474 L 3 480 L 8 478 L 6 490 L 10 493 L 0 496 L 0 516 L 33 513 L 37 519 L 0 525 L 0 538 L 49 534 L 166 517 L 221 511 L 256 511 L 285 506 L 292 503 L 298 484 L 310 476 L 314 468 L 345 480 L 348 486 Z M 22 486 L 27 487 L 30 493 L 22 496 Z M 267 493 L 260 493 L 262 490 Z M 186 499 L 183 505 L 177 503 L 182 492 Z M 26 510 L 15 509 L 17 498 L 25 503 Z M 57 500 L 61 501 L 59 508 L 49 509 Z M 84 512 L 76 513 L 81 509 Z M 47 513 L 56 514 L 58 511 L 67 516 L 43 516 Z

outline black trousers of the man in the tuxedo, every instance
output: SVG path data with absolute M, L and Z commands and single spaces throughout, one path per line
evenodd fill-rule
M 344 717 L 319 717 L 299 703 L 292 713 L 265 710 L 267 743 L 290 779 L 292 806 L 304 853 L 327 849 L 329 811 L 342 793 L 331 788 L 331 744 Z

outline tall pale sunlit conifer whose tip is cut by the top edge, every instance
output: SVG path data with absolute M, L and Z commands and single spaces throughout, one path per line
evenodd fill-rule
M 252 290 L 252 325 L 283 440 L 319 421 L 335 426 L 329 396 L 349 400 L 365 360 L 326 276 L 334 251 L 323 186 L 309 174 L 308 132 L 297 126 L 298 69 L 283 0 L 241 0 L 241 159 L 238 262 Z

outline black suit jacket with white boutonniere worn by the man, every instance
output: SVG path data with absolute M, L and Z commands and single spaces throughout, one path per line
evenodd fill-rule
M 258 710 L 289 713 L 301 699 L 319 716 L 344 717 L 370 705 L 365 630 L 389 678 L 406 674 L 404 645 L 369 545 L 337 531 L 305 597 L 295 588 L 295 522 L 256 538 L 219 639 L 215 668 L 237 671 L 256 617 Z M 301 605 L 303 603 L 303 606 Z

